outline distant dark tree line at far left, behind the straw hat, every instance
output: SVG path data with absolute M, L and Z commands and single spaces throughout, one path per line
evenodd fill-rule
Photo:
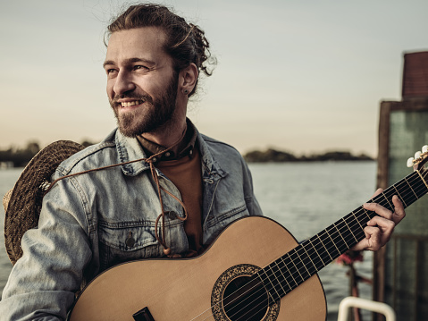
M 81 145 L 88 147 L 93 145 L 93 142 L 88 140 L 80 143 Z M 25 148 L 11 147 L 4 150 L 0 150 L 0 164 L 11 164 L 13 167 L 24 167 L 29 163 L 31 158 L 36 156 L 41 150 L 40 145 L 37 141 L 29 141 Z

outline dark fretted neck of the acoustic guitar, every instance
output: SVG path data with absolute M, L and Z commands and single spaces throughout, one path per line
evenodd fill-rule
M 378 203 L 394 211 L 393 195 L 397 195 L 404 207 L 408 207 L 427 192 L 428 188 L 421 174 L 413 172 L 368 202 Z M 358 241 L 363 240 L 364 228 L 375 215 L 362 206 L 358 207 L 314 237 L 303 241 L 269 266 L 265 266 L 256 277 L 264 283 L 273 301 L 280 300 Z

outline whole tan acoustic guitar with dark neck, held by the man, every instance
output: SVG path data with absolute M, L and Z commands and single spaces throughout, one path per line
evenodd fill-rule
M 423 197 L 427 149 L 409 159 L 413 173 L 369 202 L 393 211 L 393 195 L 404 207 Z M 106 270 L 82 291 L 70 320 L 325 320 L 317 272 L 364 239 L 374 215 L 358 207 L 301 243 L 269 218 L 239 219 L 197 258 L 143 259 Z

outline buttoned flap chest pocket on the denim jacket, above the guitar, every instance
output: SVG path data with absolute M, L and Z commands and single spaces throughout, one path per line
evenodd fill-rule
M 98 236 L 101 270 L 125 261 L 161 255 L 154 222 L 99 221 Z

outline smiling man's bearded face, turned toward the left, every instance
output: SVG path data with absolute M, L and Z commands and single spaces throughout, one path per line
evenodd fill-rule
M 107 95 L 123 135 L 154 132 L 176 110 L 178 76 L 155 27 L 113 32 L 105 57 Z

